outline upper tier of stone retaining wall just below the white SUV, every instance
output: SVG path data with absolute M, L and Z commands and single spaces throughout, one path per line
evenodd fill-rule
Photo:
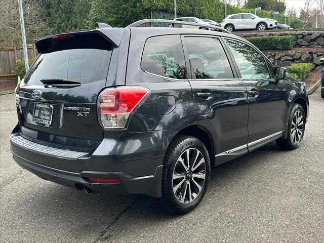
M 280 32 L 240 32 L 233 34 L 240 37 L 260 37 L 271 35 L 292 35 L 293 48 L 324 47 L 324 31 L 280 31 Z

